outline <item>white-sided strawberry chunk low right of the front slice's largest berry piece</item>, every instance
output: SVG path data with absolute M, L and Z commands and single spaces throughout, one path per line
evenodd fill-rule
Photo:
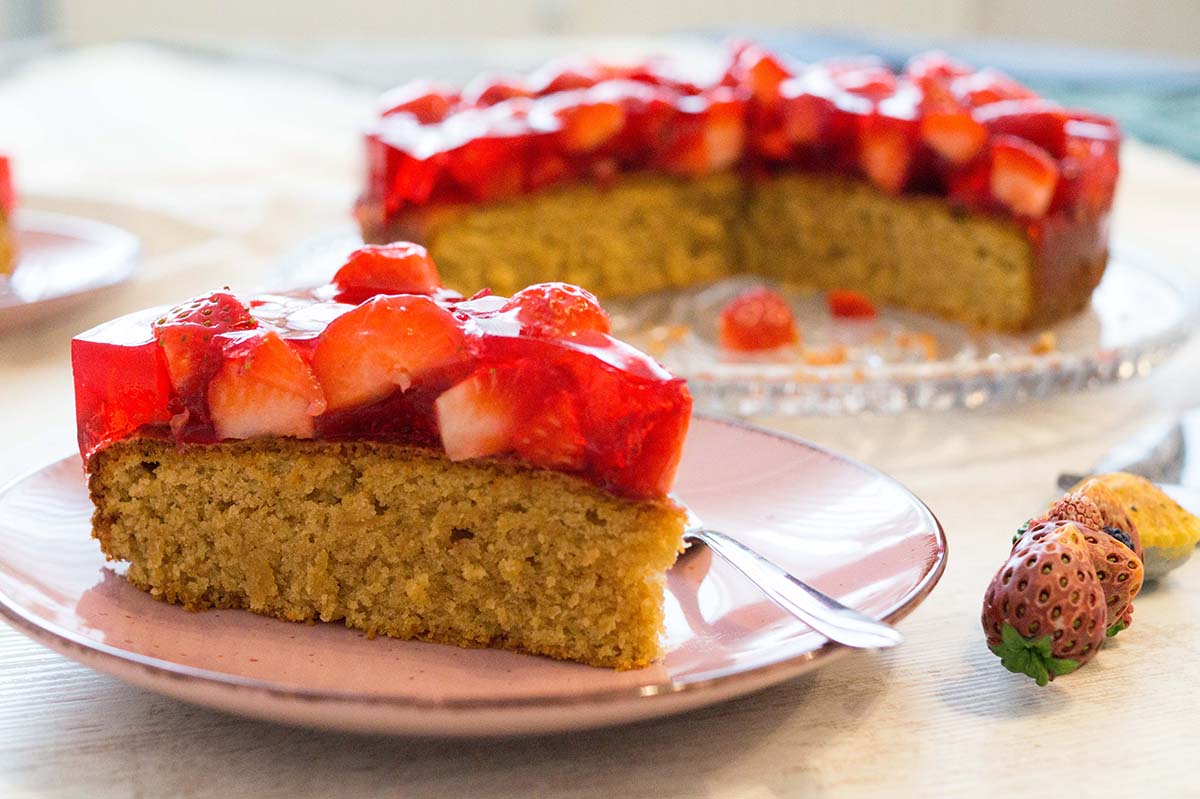
M 442 447 L 451 461 L 512 449 L 523 416 L 522 395 L 503 368 L 486 366 L 446 389 L 433 403 Z

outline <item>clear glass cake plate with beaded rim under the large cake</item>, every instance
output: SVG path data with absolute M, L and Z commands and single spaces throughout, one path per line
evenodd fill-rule
M 312 239 L 284 257 L 275 280 L 323 283 L 360 245 L 352 229 Z M 1198 319 L 1198 292 L 1182 270 L 1117 242 L 1088 308 L 1027 335 L 892 307 L 869 320 L 838 319 L 823 294 L 776 287 L 803 344 L 756 355 L 720 349 L 721 307 L 762 284 L 737 277 L 605 307 L 614 335 L 688 379 L 697 410 L 737 416 L 983 408 L 1093 389 L 1150 374 L 1188 341 Z

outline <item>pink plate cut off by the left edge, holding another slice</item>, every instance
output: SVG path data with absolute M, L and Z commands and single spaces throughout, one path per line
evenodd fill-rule
M 133 276 L 142 246 L 103 222 L 18 210 L 17 269 L 0 276 L 0 332 L 61 317 Z

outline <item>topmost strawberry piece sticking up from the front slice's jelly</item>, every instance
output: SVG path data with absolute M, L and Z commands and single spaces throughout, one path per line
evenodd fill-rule
M 359 247 L 334 275 L 338 302 L 358 305 L 377 294 L 433 294 L 442 288 L 438 268 L 421 245 L 397 241 Z

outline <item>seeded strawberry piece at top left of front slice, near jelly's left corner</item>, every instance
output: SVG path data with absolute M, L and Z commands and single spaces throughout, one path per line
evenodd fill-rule
M 150 325 L 179 395 L 191 394 L 217 367 L 215 336 L 257 326 L 250 310 L 228 292 L 212 292 L 176 305 Z

